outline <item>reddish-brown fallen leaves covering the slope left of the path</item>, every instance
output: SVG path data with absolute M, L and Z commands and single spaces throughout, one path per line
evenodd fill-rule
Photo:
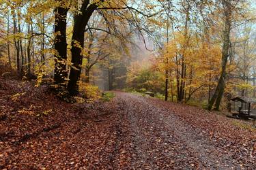
M 0 122 L 0 169 L 111 166 L 105 158 L 114 150 L 112 124 L 117 118 L 109 114 L 113 104 L 72 105 L 59 101 L 47 86 L 35 88 L 31 82 L 0 78 L 1 83 L 5 88 L 0 89 L 0 106 L 6 118 Z M 23 95 L 13 101 L 17 93 Z

